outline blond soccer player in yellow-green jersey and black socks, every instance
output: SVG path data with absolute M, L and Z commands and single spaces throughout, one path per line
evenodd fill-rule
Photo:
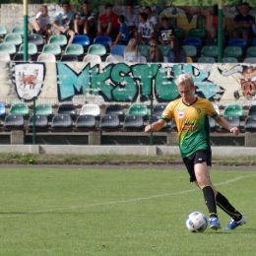
M 195 85 L 190 75 L 182 74 L 175 81 L 181 98 L 171 101 L 160 116 L 160 120 L 145 127 L 145 132 L 159 131 L 165 122 L 174 119 L 178 129 L 178 143 L 181 157 L 190 175 L 190 181 L 202 190 L 209 210 L 209 223 L 212 229 L 221 228 L 217 215 L 217 205 L 231 217 L 224 229 L 234 229 L 245 224 L 245 217 L 228 202 L 213 185 L 210 178 L 211 147 L 208 116 L 230 131 L 239 134 L 239 129 L 230 127 L 227 121 L 216 112 L 207 98 L 194 95 Z

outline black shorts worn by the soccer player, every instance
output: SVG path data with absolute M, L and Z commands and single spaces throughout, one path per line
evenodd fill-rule
M 193 155 L 189 156 L 188 158 L 184 158 L 183 162 L 186 165 L 187 171 L 190 175 L 190 182 L 196 181 L 196 175 L 195 175 L 195 164 L 196 163 L 202 163 L 206 161 L 206 164 L 208 166 L 212 165 L 212 152 L 207 150 L 199 150 Z

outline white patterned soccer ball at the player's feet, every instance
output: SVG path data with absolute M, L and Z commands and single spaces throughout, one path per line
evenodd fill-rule
M 191 232 L 203 232 L 207 225 L 207 218 L 200 212 L 191 213 L 186 221 L 186 226 Z

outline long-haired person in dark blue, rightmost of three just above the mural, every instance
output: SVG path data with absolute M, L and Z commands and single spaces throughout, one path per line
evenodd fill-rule
M 182 44 L 178 39 L 171 40 L 170 42 L 171 50 L 167 56 L 168 63 L 186 63 L 187 54 L 182 48 Z

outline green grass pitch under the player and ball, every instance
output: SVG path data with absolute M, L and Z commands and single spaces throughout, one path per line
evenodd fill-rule
M 189 232 L 187 215 L 207 210 L 184 169 L 2 168 L 0 255 L 254 255 L 256 173 L 212 178 L 247 224 Z

